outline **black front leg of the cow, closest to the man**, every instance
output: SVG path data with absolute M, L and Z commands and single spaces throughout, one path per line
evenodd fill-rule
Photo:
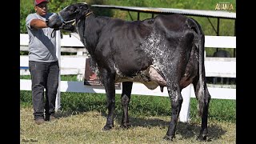
M 115 105 L 115 88 L 114 88 L 115 73 L 110 73 L 107 70 L 102 72 L 102 82 L 106 90 L 106 107 L 108 115 L 106 125 L 102 130 L 110 130 L 114 127 L 114 105 Z

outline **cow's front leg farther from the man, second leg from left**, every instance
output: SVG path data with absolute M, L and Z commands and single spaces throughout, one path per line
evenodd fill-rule
M 133 82 L 122 82 L 122 124 L 121 127 L 128 128 L 130 126 L 129 116 L 128 116 L 128 107 L 130 102 L 130 93 L 133 86 Z

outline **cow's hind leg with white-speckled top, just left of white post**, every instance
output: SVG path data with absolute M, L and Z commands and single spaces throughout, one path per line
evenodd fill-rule
M 181 90 L 177 83 L 172 83 L 170 86 L 167 86 L 168 94 L 171 102 L 171 120 L 168 127 L 168 131 L 164 139 L 172 140 L 175 138 L 176 126 L 178 122 L 178 115 L 182 108 L 182 94 Z

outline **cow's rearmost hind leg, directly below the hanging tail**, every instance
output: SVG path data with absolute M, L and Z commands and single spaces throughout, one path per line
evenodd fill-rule
M 198 80 L 195 80 L 193 82 L 193 86 L 196 98 L 198 99 L 198 115 L 202 118 L 201 130 L 200 134 L 198 135 L 198 140 L 206 141 L 208 135 L 207 118 L 210 103 L 210 94 L 206 86 L 205 78 L 203 79 L 202 84 L 200 84 Z

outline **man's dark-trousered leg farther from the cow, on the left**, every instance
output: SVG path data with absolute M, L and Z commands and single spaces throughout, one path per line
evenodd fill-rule
M 44 87 L 46 85 L 46 65 L 42 62 L 29 62 L 32 82 L 32 103 L 34 120 L 43 119 Z

